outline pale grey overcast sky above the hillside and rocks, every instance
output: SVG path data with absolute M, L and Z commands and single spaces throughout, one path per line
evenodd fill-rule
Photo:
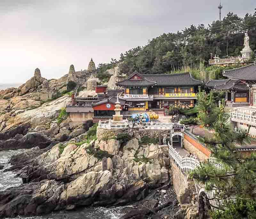
M 219 19 L 218 0 L 0 0 L 0 83 L 24 83 L 38 67 L 60 78 L 119 59 L 163 33 Z M 222 14 L 254 13 L 255 0 L 223 0 Z

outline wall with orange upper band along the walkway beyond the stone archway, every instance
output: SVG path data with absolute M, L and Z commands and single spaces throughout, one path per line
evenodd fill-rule
M 184 149 L 189 153 L 195 153 L 200 161 L 209 159 L 211 152 L 196 140 L 184 133 Z

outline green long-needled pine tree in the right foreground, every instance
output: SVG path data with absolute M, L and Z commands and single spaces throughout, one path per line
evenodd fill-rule
M 211 216 L 219 218 L 256 218 L 256 155 L 244 157 L 237 145 L 250 144 L 249 129 L 232 131 L 225 100 L 219 106 L 210 97 L 198 94 L 197 120 L 205 129 L 215 131 L 212 138 L 199 138 L 211 151 L 211 156 L 222 168 L 205 162 L 190 173 L 190 176 L 205 185 L 205 189 L 215 190 L 211 205 Z M 208 197 L 209 198 L 209 197 Z

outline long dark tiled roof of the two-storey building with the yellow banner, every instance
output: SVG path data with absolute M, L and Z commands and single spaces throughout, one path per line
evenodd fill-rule
M 142 79 L 132 80 L 135 74 L 142 77 Z M 117 82 L 118 86 L 195 86 L 201 85 L 203 82 L 196 80 L 190 73 L 179 73 L 179 74 L 139 74 L 134 72 L 128 78 L 123 81 Z

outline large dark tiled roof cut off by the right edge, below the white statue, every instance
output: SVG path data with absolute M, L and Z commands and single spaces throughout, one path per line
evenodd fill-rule
M 232 70 L 226 70 L 223 75 L 229 78 L 242 80 L 256 80 L 256 63 Z

